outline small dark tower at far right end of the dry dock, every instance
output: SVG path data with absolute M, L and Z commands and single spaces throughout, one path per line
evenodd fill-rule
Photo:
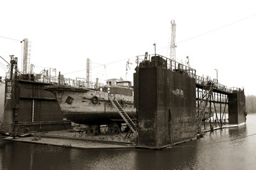
M 228 121 L 235 125 L 246 122 L 244 91 L 233 91 L 228 95 Z

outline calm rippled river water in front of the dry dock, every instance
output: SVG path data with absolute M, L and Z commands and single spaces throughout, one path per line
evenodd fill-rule
M 73 149 L 0 140 L 1 169 L 256 169 L 256 114 L 171 149 Z

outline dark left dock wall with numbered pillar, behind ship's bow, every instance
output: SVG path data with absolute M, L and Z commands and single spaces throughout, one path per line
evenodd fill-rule
M 71 127 L 55 96 L 44 90 L 49 84 L 6 80 L 4 123 L 1 132 L 64 130 Z

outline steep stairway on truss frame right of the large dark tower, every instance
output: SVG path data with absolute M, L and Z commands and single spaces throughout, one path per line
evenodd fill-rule
M 198 108 L 198 115 L 196 118 L 196 125 L 197 125 L 197 133 L 201 134 L 201 123 L 203 119 L 203 115 L 206 112 L 206 107 L 208 105 L 208 101 L 210 100 L 210 96 L 213 94 L 214 83 L 213 81 L 208 81 L 206 86 L 203 87 L 203 96 L 200 101 L 200 105 Z

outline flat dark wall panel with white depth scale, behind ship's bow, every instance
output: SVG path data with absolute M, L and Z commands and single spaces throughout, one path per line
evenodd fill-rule
M 45 84 L 19 81 L 18 115 L 19 122 L 61 121 L 64 115 L 60 111 L 55 96 L 44 90 Z

